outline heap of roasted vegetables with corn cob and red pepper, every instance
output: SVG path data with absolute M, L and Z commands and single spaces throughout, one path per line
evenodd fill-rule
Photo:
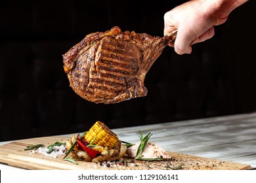
M 72 135 L 66 142 L 68 152 L 64 159 L 70 153 L 81 161 L 114 161 L 126 152 L 127 147 L 121 142 L 104 123 L 96 122 L 82 135 Z

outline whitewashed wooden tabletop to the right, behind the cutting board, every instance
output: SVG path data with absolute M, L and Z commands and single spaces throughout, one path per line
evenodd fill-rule
M 139 129 L 170 152 L 249 162 L 256 167 L 256 113 L 114 129 L 120 139 L 139 141 Z

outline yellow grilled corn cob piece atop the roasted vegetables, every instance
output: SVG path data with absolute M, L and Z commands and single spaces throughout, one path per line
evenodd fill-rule
M 118 137 L 103 122 L 98 121 L 87 131 L 85 140 L 94 145 L 112 149 L 118 141 Z

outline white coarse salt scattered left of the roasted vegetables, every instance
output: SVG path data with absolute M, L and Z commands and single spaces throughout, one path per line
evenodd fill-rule
M 40 147 L 37 148 L 37 150 L 32 150 L 30 153 L 41 153 L 44 156 L 50 157 L 50 158 L 57 158 L 58 156 L 62 156 L 66 153 L 66 146 L 53 146 L 53 151 L 51 153 L 47 153 L 49 151 L 49 148 L 46 147 Z

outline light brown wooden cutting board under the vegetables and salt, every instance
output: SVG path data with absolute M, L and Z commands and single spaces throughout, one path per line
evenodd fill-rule
M 25 151 L 24 148 L 34 144 L 53 144 L 54 142 L 66 142 L 68 137 L 39 137 L 33 139 L 24 139 L 20 141 L 10 142 L 0 146 L 0 163 L 6 163 L 13 167 L 23 169 L 171 169 L 182 165 L 182 169 L 251 169 L 250 165 L 234 163 L 230 161 L 221 161 L 217 159 L 202 158 L 198 156 L 190 156 L 187 154 L 178 154 L 169 152 L 173 159 L 169 161 L 135 161 L 135 163 L 127 163 L 125 165 L 112 165 L 111 167 L 103 167 L 99 163 L 77 161 L 78 165 L 69 161 L 64 161 L 63 157 L 49 158 L 43 154 L 32 154 L 30 150 Z M 128 159 L 129 160 L 129 159 Z M 131 160 L 131 159 L 130 159 Z

